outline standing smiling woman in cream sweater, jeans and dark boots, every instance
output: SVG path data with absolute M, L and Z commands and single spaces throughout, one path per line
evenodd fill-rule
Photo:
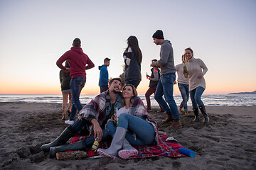
M 188 59 L 188 62 L 186 62 L 186 66 L 183 66 L 183 74 L 184 77 L 188 77 L 189 81 L 189 93 L 193 111 L 196 115 L 193 122 L 198 122 L 199 120 L 199 107 L 204 117 L 203 122 L 207 123 L 209 122 L 209 117 L 206 114 L 206 107 L 203 105 L 201 96 L 206 89 L 206 81 L 203 78 L 203 75 L 206 74 L 208 69 L 202 60 L 193 57 L 193 50 L 190 47 L 185 49 L 185 56 Z

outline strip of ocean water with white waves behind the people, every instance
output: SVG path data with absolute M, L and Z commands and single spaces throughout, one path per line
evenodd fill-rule
M 96 95 L 80 95 L 81 103 L 89 103 Z M 146 106 L 146 98 L 139 95 Z M 181 95 L 174 95 L 176 104 L 182 101 Z M 203 95 L 202 101 L 206 106 L 256 106 L 256 94 L 221 94 Z M 0 94 L 0 102 L 36 102 L 36 103 L 62 103 L 61 94 Z M 151 96 L 151 106 L 158 106 Z M 188 106 L 192 106 L 191 99 Z

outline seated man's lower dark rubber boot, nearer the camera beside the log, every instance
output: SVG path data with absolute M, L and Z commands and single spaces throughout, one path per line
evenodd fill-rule
M 68 150 L 73 150 L 73 151 L 82 150 L 85 148 L 86 148 L 85 140 L 75 142 L 75 143 L 66 144 L 66 145 L 60 145 L 58 147 L 50 147 L 49 156 L 50 156 L 50 158 L 53 158 L 53 157 L 56 157 L 56 153 L 58 153 L 58 152 L 65 152 Z

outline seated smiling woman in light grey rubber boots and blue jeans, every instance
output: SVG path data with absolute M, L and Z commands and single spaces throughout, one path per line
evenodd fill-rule
M 107 149 L 98 149 L 104 157 L 127 159 L 138 154 L 131 145 L 158 145 L 158 130 L 156 121 L 150 118 L 141 98 L 132 84 L 124 86 L 122 91 L 122 108 L 108 121 L 106 129 L 113 136 L 111 145 Z M 118 120 L 118 122 L 116 121 Z M 117 127 L 116 127 L 117 124 Z

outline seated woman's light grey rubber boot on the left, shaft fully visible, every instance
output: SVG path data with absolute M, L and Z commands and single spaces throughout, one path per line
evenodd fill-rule
M 113 159 L 116 159 L 119 150 L 122 149 L 126 133 L 126 129 L 122 127 L 117 127 L 110 147 L 107 149 L 97 149 L 97 152 L 103 157 L 111 157 Z

